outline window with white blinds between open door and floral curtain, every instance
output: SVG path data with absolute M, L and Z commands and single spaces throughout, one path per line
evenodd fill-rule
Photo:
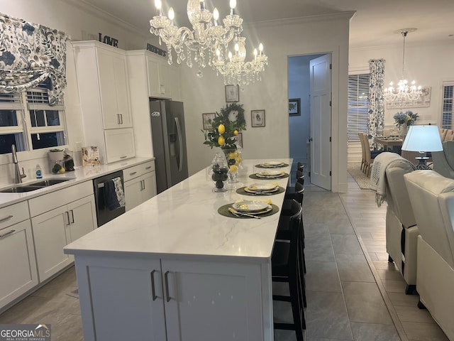
M 348 141 L 360 141 L 369 121 L 369 73 L 348 75 Z

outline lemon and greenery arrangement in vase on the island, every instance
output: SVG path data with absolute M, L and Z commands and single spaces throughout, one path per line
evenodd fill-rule
M 236 182 L 236 173 L 241 162 L 240 153 L 236 145 L 238 133 L 246 130 L 243 104 L 231 103 L 216 112 L 214 119 L 209 119 L 211 129 L 202 130 L 205 136 L 204 144 L 219 147 L 226 156 L 229 174 L 229 182 Z

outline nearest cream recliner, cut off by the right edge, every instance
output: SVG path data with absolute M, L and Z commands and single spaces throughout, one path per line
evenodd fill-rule
M 454 180 L 435 171 L 414 171 L 404 179 L 419 229 L 419 307 L 454 341 Z

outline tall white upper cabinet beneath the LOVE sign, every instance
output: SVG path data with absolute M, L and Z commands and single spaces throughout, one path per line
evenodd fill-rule
M 72 45 L 85 145 L 99 147 L 101 163 L 135 156 L 125 51 L 97 41 Z

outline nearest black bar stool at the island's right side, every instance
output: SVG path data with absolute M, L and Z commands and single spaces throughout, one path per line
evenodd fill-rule
M 272 281 L 287 283 L 289 296 L 272 295 L 273 301 L 289 302 L 292 305 L 292 323 L 275 321 L 274 328 L 279 330 L 294 330 L 297 341 L 304 341 L 303 330 L 306 329 L 304 316 L 303 291 L 301 273 L 299 271 L 299 249 L 301 243 L 301 205 L 296 200 L 292 201 L 292 216 L 289 217 L 289 241 L 275 241 L 272 251 Z

